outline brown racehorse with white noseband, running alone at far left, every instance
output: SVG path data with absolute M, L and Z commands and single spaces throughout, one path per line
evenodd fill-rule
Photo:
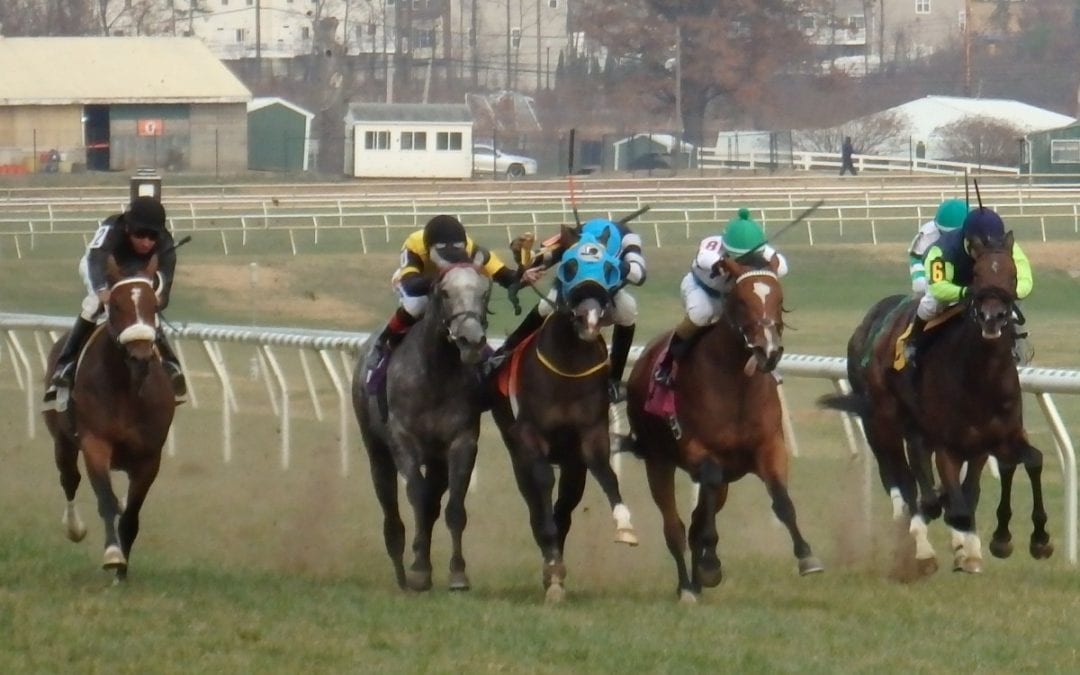
M 86 535 L 75 505 L 82 480 L 81 449 L 97 497 L 97 512 L 105 523 L 104 567 L 116 571 L 117 581 L 127 578 L 139 510 L 158 476 L 161 448 L 176 406 L 168 376 L 154 350 L 158 300 L 151 280 L 157 270 L 157 256 L 130 276 L 122 275 L 109 260 L 107 319 L 83 348 L 71 388 L 72 404 L 64 411 L 43 413 L 68 500 L 64 511 L 68 539 L 81 541 Z M 62 345 L 63 338 L 53 346 L 46 378 Z M 127 474 L 124 505 L 112 491 L 110 470 Z

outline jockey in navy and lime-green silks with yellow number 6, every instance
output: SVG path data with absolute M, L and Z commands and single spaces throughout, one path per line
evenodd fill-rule
M 904 370 L 908 377 L 914 376 L 916 354 L 921 348 L 923 330 L 934 316 L 947 308 L 961 301 L 972 282 L 972 258 L 968 252 L 969 241 L 973 239 L 1000 239 L 1005 235 L 1005 226 L 1001 216 L 989 208 L 980 206 L 972 210 L 963 219 L 963 227 L 946 232 L 927 251 L 923 259 L 926 269 L 930 270 L 930 285 L 927 293 L 919 299 L 919 307 L 912 320 L 912 326 L 904 339 Z M 1031 264 L 1021 249 L 1013 243 L 1013 261 L 1016 265 L 1016 299 L 1024 299 L 1031 293 Z M 1020 336 L 1023 337 L 1023 336 Z

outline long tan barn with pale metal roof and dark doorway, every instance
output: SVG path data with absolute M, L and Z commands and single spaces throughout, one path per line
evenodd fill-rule
M 197 38 L 0 38 L 0 172 L 247 167 L 252 94 Z

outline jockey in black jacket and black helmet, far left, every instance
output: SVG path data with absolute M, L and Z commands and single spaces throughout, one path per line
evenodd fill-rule
M 106 262 L 111 257 L 123 271 L 141 269 L 151 256 L 158 256 L 158 311 L 168 307 L 168 296 L 173 288 L 176 271 L 176 252 L 173 235 L 165 227 L 165 208 L 152 197 L 136 197 L 127 211 L 111 215 L 104 220 L 90 240 L 86 253 L 79 260 L 79 274 L 87 295 L 82 301 L 82 311 L 76 319 L 67 341 L 56 360 L 56 367 L 45 401 L 56 399 L 56 390 L 70 389 L 75 380 L 75 366 L 86 339 L 97 324 L 97 318 L 109 301 L 109 282 L 106 279 Z M 180 369 L 180 362 L 165 340 L 165 334 L 158 329 L 156 340 L 162 365 L 173 382 L 177 402 L 187 400 L 187 382 Z

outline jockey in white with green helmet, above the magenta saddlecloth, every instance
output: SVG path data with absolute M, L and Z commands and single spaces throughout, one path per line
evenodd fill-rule
M 667 350 L 652 373 L 656 381 L 670 387 L 672 367 L 689 349 L 698 329 L 716 323 L 724 315 L 725 296 L 731 291 L 734 279 L 720 267 L 720 261 L 747 254 L 759 254 L 777 276 L 787 274 L 787 259 L 766 243 L 765 232 L 750 217 L 750 210 L 740 208 L 721 234 L 706 237 L 698 246 L 690 271 L 679 285 L 686 315 L 675 326 Z

